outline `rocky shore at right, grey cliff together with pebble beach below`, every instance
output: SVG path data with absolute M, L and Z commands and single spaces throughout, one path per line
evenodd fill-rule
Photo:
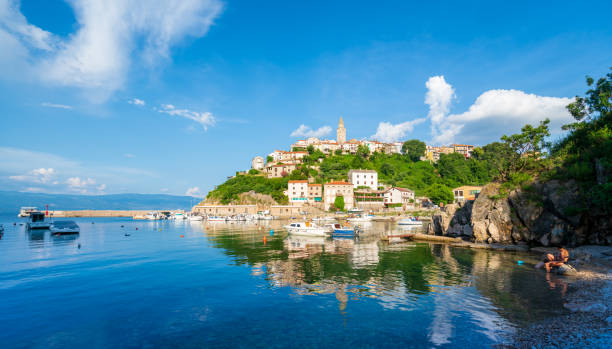
M 500 184 L 474 201 L 450 204 L 432 217 L 427 234 L 415 237 L 466 248 L 530 252 L 534 260 L 554 246 L 570 251 L 577 270 L 564 276 L 565 314 L 517 329 L 511 348 L 612 346 L 612 217 L 577 210 L 576 183 L 534 182 L 500 195 Z

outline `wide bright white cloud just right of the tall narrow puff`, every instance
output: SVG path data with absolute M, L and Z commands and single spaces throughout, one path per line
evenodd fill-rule
M 565 108 L 571 102 L 571 98 L 544 97 L 518 90 L 489 90 L 478 96 L 467 111 L 442 116 L 435 129 L 432 120 L 432 141 L 490 142 L 546 118 L 551 120 L 550 128 L 555 133 L 572 120 Z

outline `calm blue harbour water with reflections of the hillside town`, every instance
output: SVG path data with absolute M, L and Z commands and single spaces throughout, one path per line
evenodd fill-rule
M 389 224 L 75 220 L 56 237 L 0 217 L 0 348 L 476 348 L 562 312 L 563 280 L 524 255 L 382 241 Z

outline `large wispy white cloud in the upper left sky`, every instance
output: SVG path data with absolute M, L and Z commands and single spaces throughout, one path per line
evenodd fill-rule
M 27 56 L 34 75 L 103 93 L 101 98 L 123 86 L 134 60 L 154 65 L 168 58 L 172 46 L 205 35 L 223 9 L 220 0 L 69 4 L 77 29 L 63 38 L 29 24 L 18 1 L 0 1 L 0 39 Z

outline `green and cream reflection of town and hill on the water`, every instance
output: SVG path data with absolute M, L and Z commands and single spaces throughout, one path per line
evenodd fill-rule
M 215 247 L 236 263 L 249 265 L 269 287 L 290 287 L 300 296 L 335 295 L 342 313 L 352 302 L 364 299 L 375 300 L 384 309 L 429 307 L 429 337 L 436 344 L 449 342 L 459 311 L 461 321 L 469 317 L 495 339 L 502 329 L 512 327 L 508 323 L 549 315 L 536 308 L 562 309 L 560 292 L 546 287 L 545 278 L 532 268 L 517 267 L 517 257 L 510 253 L 401 238 L 383 241 L 377 232 L 392 229 L 379 223 L 358 238 L 284 232 L 271 236 L 269 229 L 256 228 L 253 233 L 249 226 L 216 226 L 207 227 L 206 233 Z

